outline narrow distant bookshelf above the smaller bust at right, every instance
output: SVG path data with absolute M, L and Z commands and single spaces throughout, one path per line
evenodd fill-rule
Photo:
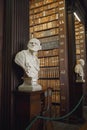
M 76 43 L 76 61 L 85 60 L 85 28 L 84 24 L 75 18 L 75 43 Z

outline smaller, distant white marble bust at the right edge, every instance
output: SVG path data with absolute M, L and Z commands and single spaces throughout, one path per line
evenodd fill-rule
M 77 76 L 76 76 L 77 82 L 85 82 L 84 65 L 85 65 L 85 61 L 83 59 L 80 59 L 80 60 L 77 61 L 77 64 L 75 66 L 75 73 L 77 74 Z

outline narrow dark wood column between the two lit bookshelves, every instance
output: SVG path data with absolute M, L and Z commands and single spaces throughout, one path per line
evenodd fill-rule
M 68 57 L 69 57 L 69 102 L 70 102 L 70 109 L 72 107 L 72 101 L 74 96 L 74 83 L 75 83 L 75 73 L 74 67 L 76 63 L 75 57 L 75 31 L 74 31 L 74 15 L 73 11 L 68 11 Z

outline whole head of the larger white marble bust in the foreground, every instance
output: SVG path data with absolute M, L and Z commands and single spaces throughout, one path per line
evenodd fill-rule
M 27 44 L 27 47 L 29 50 L 34 51 L 34 52 L 41 50 L 40 41 L 36 38 L 30 39 L 30 41 Z

